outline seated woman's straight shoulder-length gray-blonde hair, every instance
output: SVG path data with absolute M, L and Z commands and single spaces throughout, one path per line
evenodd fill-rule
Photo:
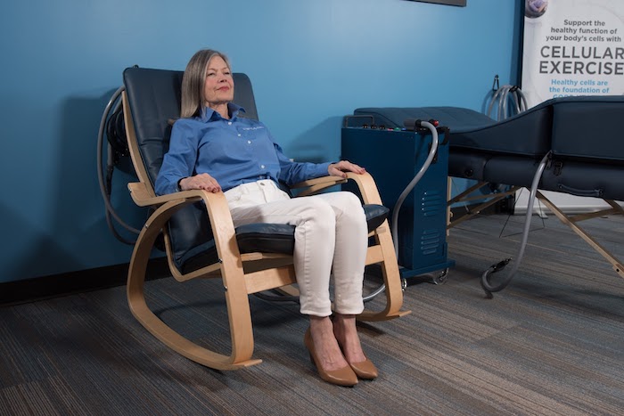
M 212 49 L 201 49 L 188 61 L 185 75 L 182 77 L 182 108 L 180 118 L 199 116 L 204 107 L 203 88 L 206 82 L 206 69 L 209 61 L 220 56 L 230 68 L 230 61 L 224 53 Z

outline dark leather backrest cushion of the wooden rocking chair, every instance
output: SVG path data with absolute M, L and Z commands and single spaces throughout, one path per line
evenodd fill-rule
M 135 123 L 136 141 L 149 179 L 153 184 L 168 151 L 170 119 L 180 116 L 180 89 L 183 71 L 127 68 L 124 86 Z M 234 73 L 234 102 L 245 109 L 244 117 L 258 119 L 250 78 Z M 212 246 L 206 209 L 197 203 L 178 211 L 168 224 L 174 260 L 185 260 Z

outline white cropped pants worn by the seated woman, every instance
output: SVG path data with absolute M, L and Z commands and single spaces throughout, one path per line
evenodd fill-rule
M 330 276 L 334 310 L 361 314 L 367 225 L 362 203 L 351 192 L 290 198 L 275 182 L 242 184 L 226 192 L 234 226 L 295 225 L 294 267 L 302 314 L 329 316 Z

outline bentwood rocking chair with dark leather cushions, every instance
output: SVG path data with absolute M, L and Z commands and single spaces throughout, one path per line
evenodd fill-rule
M 260 363 L 252 358 L 253 331 L 249 295 L 282 288 L 298 294 L 292 264 L 294 227 L 287 224 L 247 224 L 234 228 L 223 192 L 200 190 L 156 196 L 153 184 L 162 157 L 168 150 L 170 123 L 179 117 L 183 72 L 128 68 L 122 94 L 130 156 L 138 177 L 128 184 L 136 205 L 151 207 L 130 261 L 127 279 L 128 304 L 135 318 L 157 339 L 177 353 L 218 370 L 235 370 Z M 234 74 L 234 102 L 246 116 L 258 118 L 250 79 Z M 401 311 L 403 293 L 397 257 L 382 201 L 371 175 L 349 174 L 347 179 L 325 176 L 298 184 L 299 196 L 323 192 L 352 180 L 357 184 L 368 221 L 369 248 L 366 265 L 378 264 L 385 284 L 385 307 L 365 310 L 362 321 L 384 321 L 409 314 Z M 152 313 L 144 297 L 144 280 L 152 248 L 164 235 L 168 265 L 177 281 L 220 278 L 226 298 L 231 337 L 228 355 L 201 347 L 186 339 Z

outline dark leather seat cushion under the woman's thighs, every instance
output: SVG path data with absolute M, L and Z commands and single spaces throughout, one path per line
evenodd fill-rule
M 390 209 L 383 205 L 365 204 L 368 232 L 373 232 L 388 218 Z M 292 254 L 295 247 L 295 226 L 289 224 L 254 223 L 236 227 L 236 241 L 241 253 Z M 217 249 L 208 247 L 188 258 L 182 265 L 183 273 L 190 273 L 218 261 Z

